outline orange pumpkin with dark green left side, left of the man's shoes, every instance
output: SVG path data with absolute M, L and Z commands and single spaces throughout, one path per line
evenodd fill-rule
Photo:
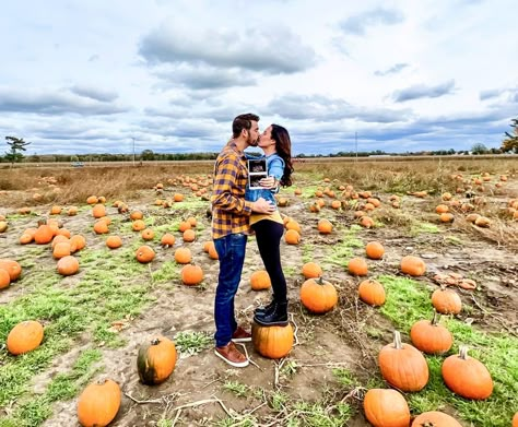
M 144 384 L 160 384 L 175 370 L 175 343 L 165 336 L 157 336 L 141 345 L 137 356 L 139 378 Z

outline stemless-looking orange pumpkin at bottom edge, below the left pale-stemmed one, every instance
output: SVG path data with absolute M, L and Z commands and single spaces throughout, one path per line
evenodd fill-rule
M 374 427 L 409 427 L 410 408 L 403 395 L 391 389 L 370 389 L 363 400 L 365 418 Z

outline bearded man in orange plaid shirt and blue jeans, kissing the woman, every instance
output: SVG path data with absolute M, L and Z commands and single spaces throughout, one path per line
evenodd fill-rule
M 243 368 L 247 357 L 235 342 L 251 341 L 251 334 L 237 325 L 234 297 L 239 286 L 251 212 L 271 214 L 275 206 L 264 199 L 245 201 L 248 170 L 244 150 L 257 146 L 259 117 L 237 116 L 232 123 L 233 139 L 222 150 L 214 166 L 212 238 L 220 258 L 220 275 L 214 300 L 216 327 L 214 353 L 228 365 Z

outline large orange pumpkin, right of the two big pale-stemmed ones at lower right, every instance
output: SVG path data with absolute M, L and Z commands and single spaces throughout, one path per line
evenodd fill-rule
M 468 347 L 460 346 L 458 355 L 443 361 L 443 379 L 454 393 L 473 400 L 487 399 L 493 393 L 493 379 L 485 365 L 468 356 Z

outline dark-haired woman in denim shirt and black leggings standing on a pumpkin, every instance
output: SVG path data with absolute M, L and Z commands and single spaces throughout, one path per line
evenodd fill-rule
M 292 185 L 292 142 L 287 130 L 279 124 L 269 126 L 259 138 L 259 147 L 264 152 L 269 178 L 261 180 L 260 190 L 246 191 L 246 200 L 256 201 L 259 198 L 275 203 L 274 194 L 280 186 Z M 279 210 L 271 215 L 252 214 L 250 226 L 256 234 L 257 246 L 264 268 L 270 275 L 273 289 L 272 301 L 256 310 L 254 320 L 262 325 L 287 324 L 287 292 L 286 280 L 281 266 L 281 238 L 284 223 Z

